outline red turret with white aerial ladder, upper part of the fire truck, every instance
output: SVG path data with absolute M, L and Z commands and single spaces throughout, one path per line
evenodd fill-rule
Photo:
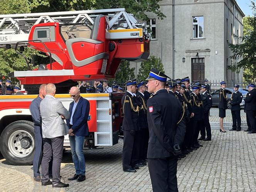
M 122 59 L 148 58 L 149 41 L 145 24 L 124 8 L 0 15 L 0 47 L 15 48 L 28 66 L 9 76 L 31 93 L 42 83 L 67 93 L 77 81 L 113 78 Z M 50 63 L 30 70 L 17 49 L 23 46 L 44 52 Z

